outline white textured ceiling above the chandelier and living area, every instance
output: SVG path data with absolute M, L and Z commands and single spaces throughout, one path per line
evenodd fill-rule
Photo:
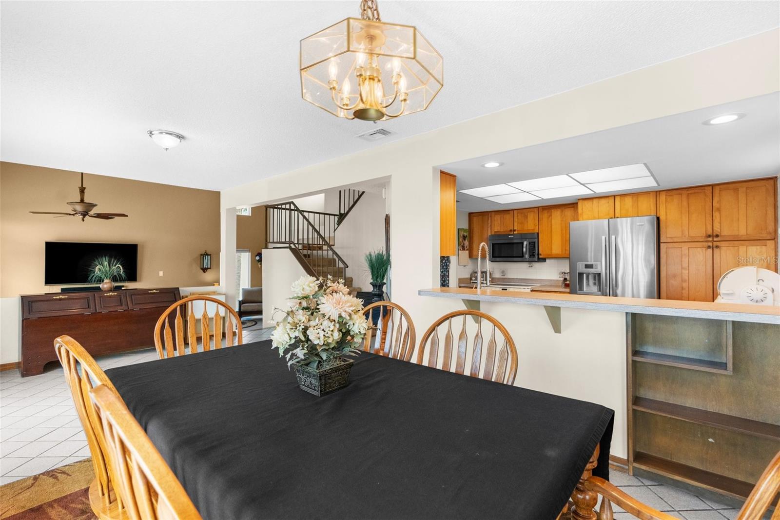
M 778 26 L 778 2 L 390 2 L 445 59 L 425 112 L 380 123 L 303 102 L 298 43 L 349 2 L 2 2 L 2 160 L 222 189 Z M 150 129 L 186 136 L 165 152 Z

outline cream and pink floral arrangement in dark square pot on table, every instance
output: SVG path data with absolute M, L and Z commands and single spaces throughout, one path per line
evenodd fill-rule
M 290 289 L 289 309 L 274 309 L 284 315 L 274 320 L 273 348 L 296 367 L 303 390 L 322 395 L 346 386 L 352 361 L 342 356 L 358 351 L 368 328 L 363 301 L 330 276 L 302 276 Z

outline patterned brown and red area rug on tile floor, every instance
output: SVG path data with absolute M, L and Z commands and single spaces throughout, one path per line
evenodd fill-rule
M 73 462 L 0 486 L 0 518 L 5 520 L 92 520 L 89 486 L 92 461 Z

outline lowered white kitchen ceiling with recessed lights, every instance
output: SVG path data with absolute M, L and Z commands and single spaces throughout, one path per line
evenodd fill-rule
M 701 124 L 730 113 L 745 117 L 722 125 Z M 484 168 L 488 161 L 503 164 Z M 451 162 L 441 169 L 458 176 L 458 190 L 467 190 L 640 162 L 647 164 L 658 180 L 658 187 L 648 190 L 776 176 L 780 173 L 780 93 Z M 578 197 L 514 204 L 498 204 L 464 193 L 458 193 L 457 198 L 459 210 L 474 212 L 572 202 Z

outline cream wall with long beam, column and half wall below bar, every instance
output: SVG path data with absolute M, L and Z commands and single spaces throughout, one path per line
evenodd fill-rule
M 460 308 L 420 297 L 438 286 L 438 168 L 737 99 L 780 91 L 780 30 L 733 41 L 488 116 L 297 169 L 222 192 L 223 211 L 389 176 L 393 300 L 418 330 Z M 722 71 L 728 70 L 728 74 Z M 435 105 L 431 107 L 435 110 Z M 392 125 L 392 123 L 388 123 Z M 223 233 L 235 234 L 229 226 Z M 223 244 L 230 240 L 223 237 Z M 235 240 L 233 240 L 235 243 Z M 235 245 L 234 245 L 235 248 Z M 625 323 L 609 312 L 562 310 L 563 333 L 551 333 L 544 309 L 485 305 L 508 326 L 521 351 L 517 382 L 615 409 L 612 453 L 626 456 Z

